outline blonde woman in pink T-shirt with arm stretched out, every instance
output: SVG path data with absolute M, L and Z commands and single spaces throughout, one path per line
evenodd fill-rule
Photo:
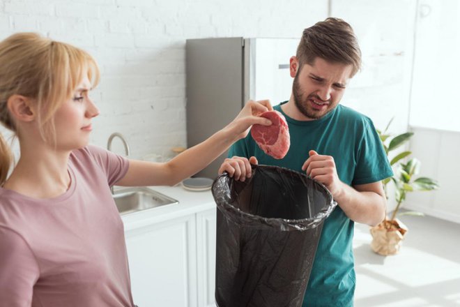
M 88 144 L 98 107 L 93 58 L 17 33 L 0 43 L 0 121 L 17 135 L 14 169 L 0 136 L 2 306 L 134 306 L 123 223 L 110 186 L 173 185 L 245 137 L 268 101 L 167 163 L 127 160 Z M 233 169 L 231 170 L 233 172 Z M 217 172 L 217 170 L 216 170 Z

